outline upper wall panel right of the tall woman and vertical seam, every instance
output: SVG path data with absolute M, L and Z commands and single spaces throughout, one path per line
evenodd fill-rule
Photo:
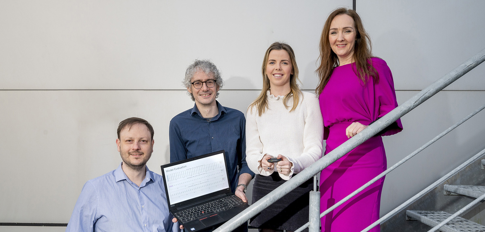
M 399 90 L 422 90 L 485 48 L 482 0 L 358 0 L 356 9 Z M 485 90 L 484 73 L 482 64 L 447 89 Z

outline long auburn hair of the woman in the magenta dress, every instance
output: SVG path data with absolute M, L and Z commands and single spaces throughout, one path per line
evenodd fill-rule
M 355 65 L 354 72 L 356 73 L 357 77 L 359 77 L 364 84 L 367 83 L 369 77 L 372 77 L 374 83 L 379 82 L 379 74 L 372 66 L 371 61 L 371 39 L 364 29 L 360 16 L 354 10 L 343 7 L 337 8 L 330 13 L 330 15 L 328 15 L 325 25 L 323 26 L 322 36 L 320 37 L 320 56 L 318 57 L 320 60 L 320 65 L 316 70 L 320 80 L 317 88 L 315 89 L 315 93 L 317 93 L 317 95 L 322 93 L 323 88 L 325 88 L 325 85 L 328 83 L 328 79 L 332 75 L 334 68 L 339 66 L 339 58 L 337 57 L 337 54 L 333 52 L 332 47 L 330 46 L 330 40 L 328 39 L 328 35 L 330 33 L 330 24 L 337 15 L 349 15 L 352 17 L 352 19 L 354 19 L 354 26 L 356 27 L 355 29 L 357 35 L 353 59 L 356 63 L 352 65 Z

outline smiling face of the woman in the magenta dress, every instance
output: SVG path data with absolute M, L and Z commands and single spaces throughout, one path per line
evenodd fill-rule
M 339 65 L 354 62 L 357 31 L 354 19 L 349 15 L 337 15 L 330 23 L 328 40 L 332 51 L 339 58 Z

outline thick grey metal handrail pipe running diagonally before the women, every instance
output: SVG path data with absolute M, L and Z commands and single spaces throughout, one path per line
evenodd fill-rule
M 327 155 L 323 156 L 321 159 L 317 160 L 310 167 L 298 173 L 298 175 L 292 177 L 289 181 L 277 187 L 271 193 L 249 206 L 249 208 L 245 209 L 232 219 L 228 220 L 226 223 L 217 228 L 214 232 L 233 231 L 234 229 L 239 227 L 239 225 L 242 225 L 242 223 L 246 222 L 251 217 L 254 217 L 263 209 L 288 194 L 291 190 L 303 184 L 305 181 L 316 175 L 324 168 L 328 167 L 340 157 L 349 153 L 358 145 L 362 144 L 367 139 L 370 139 L 372 136 L 386 128 L 388 125 L 394 123 L 397 119 L 401 118 L 404 114 L 416 108 L 421 103 L 453 83 L 453 81 L 462 77 L 471 69 L 484 61 L 485 49 L 482 49 L 479 53 L 472 56 L 470 59 L 463 62 L 462 64 L 458 65 L 448 74 L 439 78 L 434 83 L 432 83 L 413 97 L 409 98 L 403 104 L 401 104 L 397 108 L 394 108 L 388 114 L 384 115 L 382 118 L 369 125 L 366 129 L 362 130 L 360 133 L 345 141 L 339 147 L 337 147 Z

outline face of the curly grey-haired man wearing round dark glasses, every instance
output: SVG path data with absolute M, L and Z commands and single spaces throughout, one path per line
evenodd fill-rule
M 191 79 L 191 83 L 194 81 L 208 81 L 214 80 L 213 75 L 207 75 L 206 73 L 199 71 L 196 72 L 194 77 Z M 209 88 L 207 87 L 207 83 L 202 84 L 202 88 L 195 89 L 194 85 L 191 84 L 190 88 L 187 88 L 187 91 L 194 95 L 195 104 L 197 107 L 200 106 L 217 106 L 215 98 L 217 96 L 217 91 L 219 91 L 219 86 L 216 84 L 215 86 Z

